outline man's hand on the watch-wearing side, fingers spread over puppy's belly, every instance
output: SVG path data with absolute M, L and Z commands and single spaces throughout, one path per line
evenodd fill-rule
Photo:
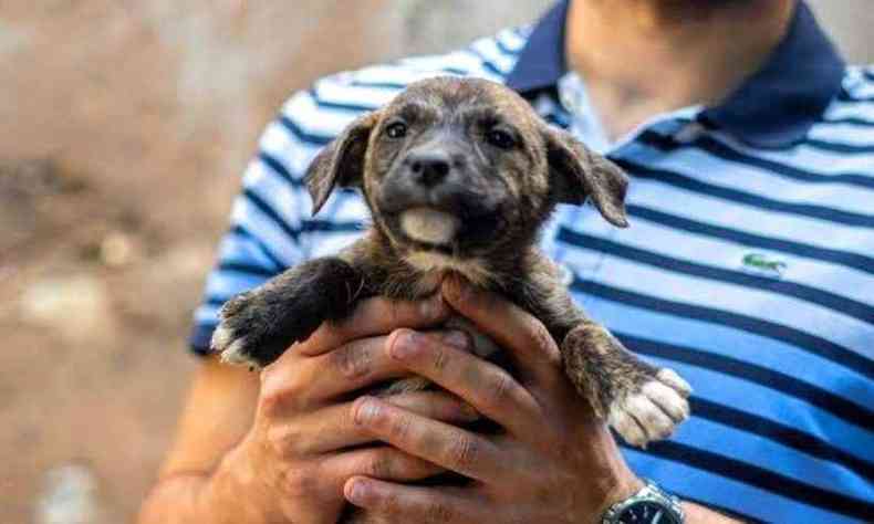
M 474 480 L 468 488 L 416 488 L 355 475 L 346 499 L 388 522 L 587 523 L 642 483 L 605 425 L 565 379 L 545 327 L 493 294 L 448 280 L 444 295 L 501 345 L 519 370 L 503 369 L 438 338 L 400 329 L 391 358 L 451 391 L 506 432 L 489 437 L 364 397 L 353 406 L 363 432 Z

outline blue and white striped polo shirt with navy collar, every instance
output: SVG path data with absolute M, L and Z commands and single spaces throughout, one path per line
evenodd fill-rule
M 722 104 L 599 140 L 585 81 L 565 70 L 566 8 L 294 94 L 243 176 L 194 349 L 207 350 L 226 300 L 360 235 L 367 210 L 353 191 L 311 217 L 302 177 L 320 148 L 415 80 L 490 78 L 631 177 L 631 228 L 562 206 L 542 248 L 591 317 L 695 388 L 670 440 L 623 447 L 632 469 L 749 521 L 874 521 L 874 70 L 846 66 L 800 3 Z

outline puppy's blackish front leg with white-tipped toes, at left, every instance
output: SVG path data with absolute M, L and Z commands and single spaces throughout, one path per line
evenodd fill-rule
M 337 258 L 296 265 L 222 306 L 212 350 L 227 363 L 267 366 L 322 322 L 346 316 L 363 285 L 361 272 Z

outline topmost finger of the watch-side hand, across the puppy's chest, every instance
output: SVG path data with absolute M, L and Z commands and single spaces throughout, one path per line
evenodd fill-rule
M 523 379 L 555 378 L 561 355 L 540 321 L 506 298 L 477 290 L 457 276 L 444 281 L 443 295 L 455 311 L 510 354 Z

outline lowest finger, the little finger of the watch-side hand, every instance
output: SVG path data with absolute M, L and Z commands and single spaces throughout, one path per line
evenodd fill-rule
M 346 500 L 389 522 L 467 524 L 496 522 L 481 506 L 457 490 L 415 488 L 354 476 L 343 488 Z

